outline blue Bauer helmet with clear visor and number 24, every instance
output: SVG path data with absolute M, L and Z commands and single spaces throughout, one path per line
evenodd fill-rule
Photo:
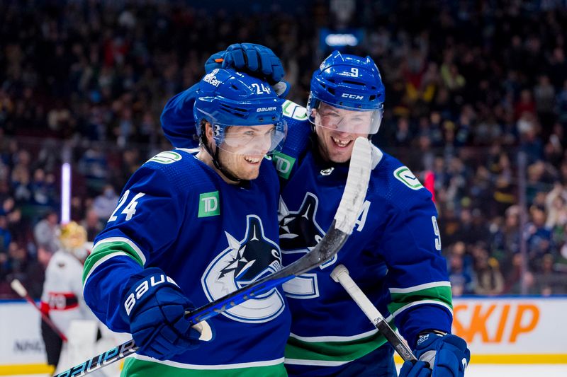
M 262 150 L 268 152 L 281 148 L 286 137 L 287 124 L 283 120 L 281 100 L 274 90 L 261 79 L 237 72 L 233 69 L 213 69 L 206 74 L 196 93 L 193 116 L 195 117 L 197 135 L 203 141 L 202 122 L 206 120 L 213 127 L 213 139 L 219 149 L 231 146 L 234 149 L 245 149 L 253 140 L 267 140 L 269 147 Z M 265 128 L 259 132 L 230 132 L 229 127 L 256 127 L 273 125 L 268 132 Z M 262 127 L 257 127 L 262 128 Z M 203 143 L 205 144 L 205 143 Z M 247 154 L 260 154 L 259 149 Z

